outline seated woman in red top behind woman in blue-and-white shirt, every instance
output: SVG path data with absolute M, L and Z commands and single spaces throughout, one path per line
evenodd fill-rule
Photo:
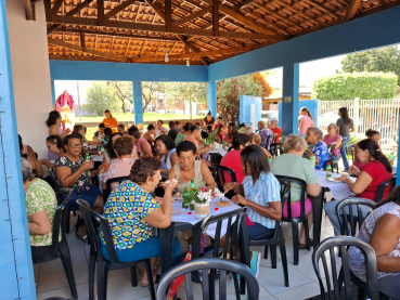
M 232 146 L 229 153 L 222 157 L 221 166 L 232 169 L 236 174 L 237 184 L 242 184 L 245 174 L 243 173 L 242 162 L 241 162 L 241 152 L 250 144 L 250 136 L 244 133 L 236 133 L 233 136 Z M 224 178 L 227 182 L 232 182 L 231 175 L 225 172 Z

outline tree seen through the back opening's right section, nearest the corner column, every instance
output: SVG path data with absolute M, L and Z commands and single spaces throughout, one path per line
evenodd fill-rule
M 207 102 L 207 87 L 205 82 L 168 82 L 165 84 L 166 97 L 169 104 L 189 102 L 190 118 L 192 119 L 192 102 Z

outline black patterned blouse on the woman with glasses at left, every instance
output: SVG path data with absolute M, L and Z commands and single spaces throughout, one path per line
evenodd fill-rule
M 59 167 L 68 167 L 70 169 L 70 172 L 76 172 L 80 166 L 83 164 L 85 159 L 81 155 L 79 155 L 78 161 L 72 161 L 66 156 L 59 156 L 54 160 L 54 167 L 52 169 L 51 175 L 55 179 L 57 185 L 60 188 L 63 186 L 61 185 L 57 177 L 56 177 L 56 168 Z M 80 178 L 72 185 L 69 186 L 74 188 L 74 191 L 89 191 L 92 187 L 92 184 L 90 183 L 90 172 L 85 171 Z

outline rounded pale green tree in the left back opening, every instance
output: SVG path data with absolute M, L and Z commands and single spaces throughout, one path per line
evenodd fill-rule
M 87 90 L 86 97 L 87 103 L 82 106 L 88 113 L 101 116 L 105 109 L 116 113 L 120 112 L 114 89 L 106 82 L 93 82 Z

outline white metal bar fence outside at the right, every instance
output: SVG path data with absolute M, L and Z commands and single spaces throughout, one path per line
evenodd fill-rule
M 324 133 L 330 123 L 336 123 L 341 106 L 347 107 L 354 122 L 356 132 L 351 136 L 364 139 L 366 130 L 376 130 L 380 133 L 383 152 L 397 153 L 400 99 L 320 101 L 318 126 Z

